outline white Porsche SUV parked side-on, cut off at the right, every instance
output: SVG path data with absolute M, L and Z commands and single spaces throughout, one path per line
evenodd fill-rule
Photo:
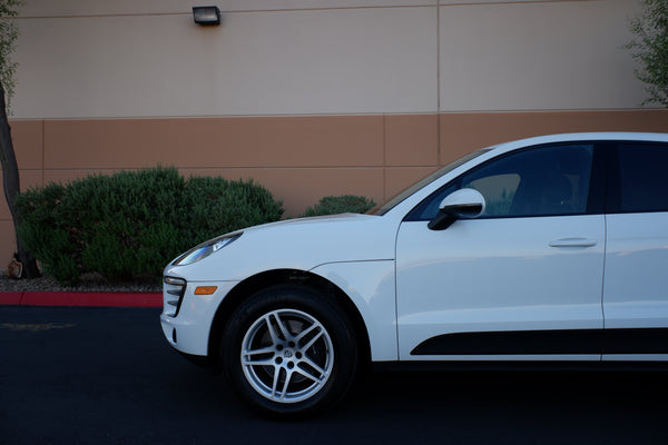
M 370 215 L 215 238 L 165 269 L 167 340 L 271 413 L 369 363 L 668 360 L 668 135 L 475 151 Z

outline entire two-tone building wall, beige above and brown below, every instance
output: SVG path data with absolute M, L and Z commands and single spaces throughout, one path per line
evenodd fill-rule
M 22 187 L 157 164 L 254 178 L 288 216 L 383 201 L 473 149 L 668 131 L 621 47 L 639 0 L 27 0 Z M 0 268 L 14 249 L 0 205 Z

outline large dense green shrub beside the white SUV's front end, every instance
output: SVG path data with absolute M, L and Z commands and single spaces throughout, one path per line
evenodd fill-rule
M 163 167 L 50 184 L 20 194 L 17 207 L 23 243 L 62 284 L 86 273 L 158 278 L 188 248 L 283 214 L 252 180 L 185 179 Z

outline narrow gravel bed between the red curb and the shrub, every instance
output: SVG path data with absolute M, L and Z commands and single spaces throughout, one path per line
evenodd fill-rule
M 42 276 L 33 279 L 8 278 L 0 271 L 0 291 L 118 291 L 148 293 L 161 291 L 163 287 L 155 280 L 109 281 L 99 276 L 82 277 L 78 286 L 61 286 L 53 278 Z

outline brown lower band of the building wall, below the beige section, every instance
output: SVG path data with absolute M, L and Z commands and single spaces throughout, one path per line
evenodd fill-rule
M 90 174 L 175 166 L 253 178 L 297 216 L 324 196 L 382 202 L 455 158 L 493 144 L 572 131 L 668 132 L 668 110 L 158 119 L 12 119 L 22 189 Z M 2 201 L 3 202 L 3 201 Z M 13 228 L 0 202 L 0 268 Z

